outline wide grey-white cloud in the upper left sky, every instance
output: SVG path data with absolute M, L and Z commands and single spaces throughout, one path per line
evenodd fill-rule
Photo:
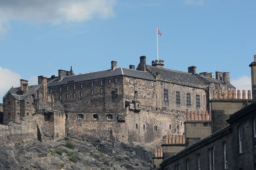
M 11 20 L 52 24 L 81 22 L 93 17 L 114 16 L 116 0 L 2 0 L 0 1 L 0 31 Z

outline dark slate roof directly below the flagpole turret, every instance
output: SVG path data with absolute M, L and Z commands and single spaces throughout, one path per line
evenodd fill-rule
M 154 67 L 154 66 L 149 66 L 147 67 L 153 72 L 160 72 L 160 77 L 163 79 L 168 79 L 168 80 L 174 80 L 174 81 L 179 81 L 179 82 L 186 82 L 186 83 L 191 83 L 191 84 L 196 84 L 196 85 L 204 85 L 196 76 L 193 74 L 190 74 L 188 72 L 181 72 L 181 71 L 176 71 L 176 70 L 169 70 L 166 68 L 159 68 L 159 67 Z

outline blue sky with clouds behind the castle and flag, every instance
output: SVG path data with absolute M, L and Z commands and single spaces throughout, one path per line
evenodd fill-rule
M 146 55 L 165 68 L 230 72 L 250 89 L 256 54 L 254 0 L 13 0 L 0 2 L 0 102 L 19 79 L 129 67 Z

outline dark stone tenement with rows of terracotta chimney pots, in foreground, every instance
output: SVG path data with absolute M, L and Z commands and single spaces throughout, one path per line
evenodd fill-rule
M 203 112 L 187 112 L 184 136 L 168 135 L 155 150 L 158 170 L 256 170 L 256 55 L 250 65 L 248 90 L 213 91 L 211 119 Z M 218 96 L 219 95 L 219 96 Z M 252 98 L 252 99 L 251 99 Z

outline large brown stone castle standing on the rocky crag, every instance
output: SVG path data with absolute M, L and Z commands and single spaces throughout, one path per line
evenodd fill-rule
M 136 70 L 134 65 L 122 68 L 112 61 L 109 70 L 75 75 L 71 67 L 70 71 L 58 70 L 58 76 L 38 76 L 37 85 L 20 81 L 20 87 L 4 96 L 4 124 L 22 123 L 39 114 L 63 124 L 61 115 L 66 133 L 140 143 L 168 134 L 183 135 L 188 111 L 210 115 L 215 92 L 217 98 L 226 98 L 224 92 L 236 90 L 228 72 L 216 72 L 214 78 L 213 73 L 197 74 L 196 66 L 188 67 L 188 72 L 170 70 L 162 60 L 147 65 L 145 56 L 140 57 Z M 54 135 L 63 132 L 62 126 L 38 127 Z

